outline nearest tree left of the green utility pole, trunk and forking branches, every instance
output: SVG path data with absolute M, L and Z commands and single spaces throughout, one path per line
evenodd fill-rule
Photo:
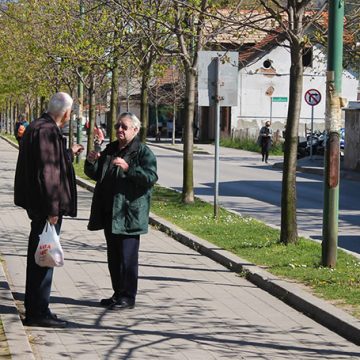
M 298 241 L 296 217 L 296 164 L 299 119 L 303 92 L 303 55 L 310 43 L 310 26 L 322 13 L 307 13 L 311 0 L 259 0 L 268 14 L 279 24 L 288 41 L 291 57 L 289 106 L 286 121 L 284 166 L 281 192 L 281 234 L 284 244 Z

